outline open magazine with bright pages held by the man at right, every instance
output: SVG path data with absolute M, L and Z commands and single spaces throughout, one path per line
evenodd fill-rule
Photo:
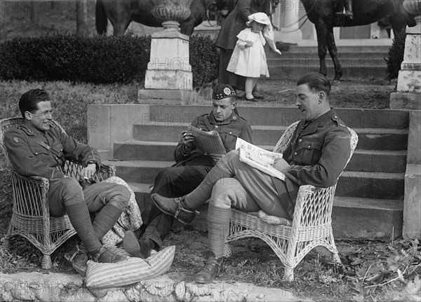
M 243 163 L 247 163 L 273 177 L 285 180 L 285 174 L 273 167 L 276 158 L 282 158 L 282 153 L 267 151 L 241 138 L 236 139 L 235 149 L 240 149 L 240 160 Z

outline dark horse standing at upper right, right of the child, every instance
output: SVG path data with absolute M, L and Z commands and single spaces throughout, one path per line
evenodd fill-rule
M 392 29 L 396 34 L 406 25 L 415 26 L 413 15 L 403 9 L 403 0 L 352 0 L 354 19 L 337 15 L 342 11 L 341 1 L 338 0 L 301 0 L 307 16 L 316 27 L 317 43 L 319 46 L 319 72 L 326 76 L 326 46 L 335 66 L 335 78 L 342 76 L 342 67 L 338 60 L 338 52 L 333 37 L 333 27 L 350 27 L 367 25 L 382 18 L 389 17 Z

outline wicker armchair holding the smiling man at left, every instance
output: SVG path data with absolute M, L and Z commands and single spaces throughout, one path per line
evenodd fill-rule
M 42 254 L 44 254 L 41 266 L 44 269 L 51 268 L 51 254 L 60 247 L 67 239 L 76 234 L 67 215 L 63 217 L 51 217 L 48 207 L 49 181 L 44 177 L 22 177 L 13 170 L 8 160 L 7 150 L 4 146 L 6 132 L 20 125 L 22 118 L 5 118 L 0 121 L 0 147 L 6 161 L 6 170 L 10 171 L 13 188 L 13 212 L 6 238 L 2 247 L 8 248 L 9 238 L 13 235 L 21 235 L 27 238 Z M 53 121 L 55 125 L 65 130 Z M 65 163 L 65 174 L 78 177 L 83 167 L 76 162 Z M 102 165 L 95 174 L 95 181 L 102 181 L 115 175 L 115 167 Z

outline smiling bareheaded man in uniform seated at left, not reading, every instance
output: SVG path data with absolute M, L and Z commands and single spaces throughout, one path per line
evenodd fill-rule
M 99 182 L 83 188 L 77 179 L 63 173 L 65 160 L 83 164 L 81 179 L 89 180 L 101 165 L 98 151 L 81 144 L 52 123 L 51 99 L 48 92 L 33 89 L 19 101 L 23 121 L 5 135 L 8 157 L 18 174 L 49 179 L 50 214 L 67 213 L 81 239 L 81 247 L 66 255 L 73 268 L 86 275 L 88 257 L 101 263 L 114 263 L 124 258 L 103 247 L 100 239 L 114 226 L 130 199 L 130 192 L 120 184 Z M 91 222 L 90 212 L 96 212 Z

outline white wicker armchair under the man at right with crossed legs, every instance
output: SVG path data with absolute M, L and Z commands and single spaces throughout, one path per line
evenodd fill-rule
M 276 144 L 274 151 L 281 153 L 285 151 L 297 125 L 298 122 L 295 122 L 288 127 Z M 348 129 L 351 132 L 349 162 L 358 142 L 358 136 L 354 130 Z M 328 188 L 316 188 L 311 185 L 300 186 L 292 223 L 286 221 L 286 224 L 276 224 L 274 221 L 279 217 L 270 219 L 271 217 L 266 214 L 265 218 L 269 219 L 260 219 L 256 213 L 232 209 L 224 256 L 231 255 L 228 242 L 241 238 L 260 238 L 274 250 L 276 256 L 283 263 L 285 268 L 283 280 L 287 281 L 293 281 L 295 266 L 316 246 L 326 247 L 332 253 L 333 260 L 340 263 L 332 231 L 335 188 L 336 184 Z M 285 222 L 286 219 L 283 220 Z

